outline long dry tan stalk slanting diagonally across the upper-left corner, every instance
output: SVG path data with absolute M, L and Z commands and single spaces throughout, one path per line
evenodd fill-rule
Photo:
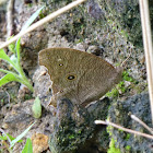
M 57 10 L 56 12 L 54 12 L 54 13 L 47 15 L 46 17 L 42 19 L 40 21 L 38 21 L 38 22 L 34 23 L 33 25 L 31 25 L 27 30 L 25 30 L 25 31 L 19 33 L 17 35 L 15 35 L 14 37 L 12 37 L 11 39 L 7 40 L 4 44 L 2 44 L 2 45 L 0 46 L 0 49 L 7 47 L 9 44 L 15 42 L 16 39 L 19 39 L 19 38 L 22 37 L 23 35 L 25 35 L 25 34 L 27 34 L 27 33 L 34 31 L 35 28 L 37 28 L 37 27 L 44 25 L 45 23 L 50 22 L 50 21 L 54 20 L 55 17 L 57 17 L 57 16 L 59 16 L 60 14 L 62 14 L 62 13 L 69 11 L 70 9 L 72 9 L 72 8 L 74 8 L 74 7 L 79 5 L 79 4 L 81 4 L 81 3 L 84 2 L 84 1 L 85 1 L 85 0 L 76 0 L 76 1 L 73 1 L 73 2 L 69 3 L 68 5 L 66 5 L 66 7 L 61 8 L 61 9 L 59 9 L 59 10 Z

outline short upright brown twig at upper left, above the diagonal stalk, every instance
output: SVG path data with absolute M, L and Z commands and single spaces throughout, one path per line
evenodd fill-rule
M 14 0 L 9 0 L 8 2 L 8 8 L 7 8 L 7 33 L 8 33 L 8 38 L 13 35 L 13 28 L 14 28 Z

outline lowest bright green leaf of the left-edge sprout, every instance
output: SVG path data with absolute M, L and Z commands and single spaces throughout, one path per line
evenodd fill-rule
M 17 79 L 17 78 L 15 78 L 14 74 L 8 73 L 8 74 L 5 74 L 4 76 L 2 76 L 2 78 L 0 79 L 0 86 L 4 85 L 4 84 L 7 84 L 7 83 L 9 83 L 9 82 L 11 82 L 11 81 L 21 82 L 21 80 Z

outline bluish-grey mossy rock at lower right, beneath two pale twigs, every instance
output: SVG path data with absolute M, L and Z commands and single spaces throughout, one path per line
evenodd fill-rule
M 118 123 L 125 128 L 150 134 L 150 132 L 140 123 L 131 119 L 130 115 L 136 115 L 152 128 L 151 108 L 148 93 L 136 95 L 125 102 L 114 103 L 109 109 L 109 118 L 111 122 Z M 122 153 L 126 152 L 126 146 L 130 146 L 130 153 L 153 152 L 151 148 L 153 140 L 140 136 L 133 136 L 114 128 L 110 130 L 110 133 L 111 138 L 116 141 L 116 148 L 119 148 Z

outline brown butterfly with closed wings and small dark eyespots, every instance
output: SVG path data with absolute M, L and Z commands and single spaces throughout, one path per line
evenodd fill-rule
M 57 98 L 67 97 L 86 106 L 118 83 L 122 72 L 94 55 L 71 48 L 42 50 L 39 64 L 48 69 L 52 81 L 52 105 Z

